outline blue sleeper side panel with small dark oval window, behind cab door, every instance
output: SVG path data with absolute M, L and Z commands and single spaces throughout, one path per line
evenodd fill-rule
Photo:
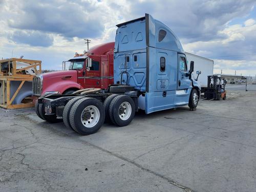
M 173 108 L 177 89 L 177 52 L 148 48 L 148 54 L 146 114 Z

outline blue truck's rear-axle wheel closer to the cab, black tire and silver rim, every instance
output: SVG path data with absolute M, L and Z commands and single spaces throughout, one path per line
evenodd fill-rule
M 118 95 L 110 103 L 110 119 L 117 126 L 126 126 L 134 118 L 135 104 L 131 97 Z

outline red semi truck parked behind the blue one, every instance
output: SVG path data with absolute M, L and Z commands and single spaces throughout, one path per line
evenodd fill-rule
M 84 54 L 76 54 L 70 59 L 68 71 L 44 73 L 34 77 L 33 101 L 48 93 L 67 95 L 85 88 L 108 89 L 114 82 L 114 46 L 115 42 L 94 46 Z

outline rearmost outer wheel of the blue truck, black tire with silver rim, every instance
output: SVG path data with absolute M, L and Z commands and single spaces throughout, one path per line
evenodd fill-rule
M 84 112 L 87 112 L 87 114 L 84 114 Z M 81 135 L 96 133 L 104 123 L 104 119 L 105 111 L 103 104 L 95 98 L 88 97 L 76 101 L 69 115 L 72 128 Z

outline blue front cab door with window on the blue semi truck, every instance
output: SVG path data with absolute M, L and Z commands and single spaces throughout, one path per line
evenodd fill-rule
M 178 78 L 177 90 L 184 90 L 190 87 L 191 81 L 187 75 L 187 62 L 184 54 L 178 53 Z

